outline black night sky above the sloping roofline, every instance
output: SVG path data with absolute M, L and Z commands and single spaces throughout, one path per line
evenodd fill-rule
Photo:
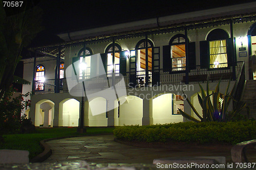
M 61 41 L 56 35 L 70 31 L 113 25 L 126 21 L 165 16 L 182 12 L 209 9 L 252 0 L 187 1 L 187 0 L 33 0 L 44 12 L 42 31 L 33 45 Z

